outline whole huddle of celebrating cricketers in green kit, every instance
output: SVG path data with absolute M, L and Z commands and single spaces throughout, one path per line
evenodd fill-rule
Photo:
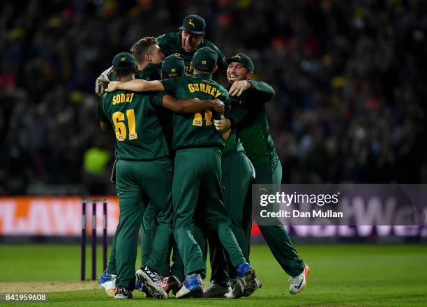
M 274 90 L 251 80 L 246 54 L 225 58 L 205 40 L 205 27 L 188 15 L 178 33 L 142 38 L 132 54 L 114 56 L 96 80 L 100 126 L 116 136 L 120 209 L 98 283 L 116 299 L 135 289 L 166 299 L 170 290 L 177 298 L 239 298 L 261 288 L 249 265 L 250 187 L 281 181 L 266 113 Z M 215 81 L 223 73 L 227 89 Z M 290 293 L 301 292 L 309 269 L 283 225 L 260 231 L 291 276 Z M 203 289 L 208 249 L 212 272 Z

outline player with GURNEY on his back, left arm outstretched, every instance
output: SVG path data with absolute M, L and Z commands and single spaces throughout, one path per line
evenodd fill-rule
M 198 49 L 193 57 L 195 75 L 159 81 L 133 80 L 112 82 L 108 90 L 127 88 L 140 91 L 163 91 L 177 98 L 219 98 L 230 106 L 225 88 L 211 79 L 217 69 L 218 56 L 209 47 Z M 221 152 L 224 141 L 212 125 L 210 111 L 182 116 L 174 114 L 173 149 L 176 150 L 172 203 L 174 206 L 174 238 L 184 263 L 186 279 L 177 297 L 201 297 L 200 276 L 204 261 L 200 246 L 191 232 L 195 210 L 209 228 L 216 230 L 225 251 L 236 267 L 239 285 L 244 296 L 256 289 L 255 270 L 248 265 L 230 229 L 230 218 L 223 205 L 220 186 Z M 203 212 L 203 214 L 200 214 Z

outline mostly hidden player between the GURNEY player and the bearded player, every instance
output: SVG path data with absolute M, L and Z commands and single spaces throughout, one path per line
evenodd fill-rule
M 237 129 L 235 129 L 248 112 L 235 99 L 231 100 L 231 106 L 230 113 L 234 127 L 229 127 L 223 132 L 226 139 L 222 151 L 224 205 L 232 220 L 231 228 L 234 236 L 246 260 L 249 261 L 250 227 L 252 223 L 250 187 L 253 179 L 255 179 L 255 169 L 246 156 L 244 147 L 237 135 Z M 214 120 L 214 125 L 218 130 L 223 131 L 221 120 Z M 235 288 L 236 271 L 230 265 L 230 260 L 225 257 L 218 237 L 209 234 L 208 243 L 212 273 L 211 283 L 204 289 L 204 297 L 224 297 L 224 295 L 228 297 L 232 291 L 230 278 L 232 278 L 231 285 Z M 204 257 L 206 256 L 204 255 Z M 258 280 L 257 288 L 260 288 L 260 281 Z M 239 292 L 238 297 L 241 296 L 243 293 Z M 231 298 L 237 298 L 237 295 L 234 294 L 234 297 Z

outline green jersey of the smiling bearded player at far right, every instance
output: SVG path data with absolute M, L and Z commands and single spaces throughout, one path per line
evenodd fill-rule
M 236 97 L 248 113 L 237 125 L 246 155 L 254 166 L 278 161 L 276 148 L 270 136 L 267 102 L 274 97 L 274 89 L 265 82 L 248 80 L 252 88 Z

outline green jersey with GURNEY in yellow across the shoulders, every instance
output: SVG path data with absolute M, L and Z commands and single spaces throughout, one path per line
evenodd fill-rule
M 225 110 L 230 109 L 230 97 L 227 90 L 210 77 L 197 74 L 192 77 L 179 77 L 161 81 L 165 92 L 177 99 L 210 100 L 218 98 L 225 104 Z M 179 150 L 195 147 L 223 148 L 223 137 L 216 132 L 212 123 L 213 118 L 219 118 L 218 113 L 202 111 L 194 114 L 174 113 L 172 148 Z

